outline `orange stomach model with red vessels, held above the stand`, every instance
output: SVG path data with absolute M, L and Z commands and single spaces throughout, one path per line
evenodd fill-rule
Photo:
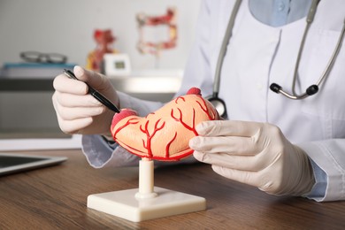
M 180 160 L 193 153 L 188 142 L 197 135 L 196 125 L 219 119 L 219 114 L 203 98 L 199 88 L 190 88 L 187 95 L 178 96 L 146 117 L 123 109 L 111 123 L 115 142 L 132 154 L 161 161 Z

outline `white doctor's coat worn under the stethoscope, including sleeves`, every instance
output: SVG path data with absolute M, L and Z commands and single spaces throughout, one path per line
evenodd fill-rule
M 179 94 L 199 87 L 211 95 L 220 44 L 234 0 L 204 0 L 193 47 Z M 345 1 L 321 1 L 303 50 L 296 93 L 315 84 L 334 52 L 345 18 Z M 272 82 L 291 91 L 295 60 L 305 18 L 283 27 L 269 27 L 255 19 L 244 0 L 223 64 L 219 97 L 229 119 L 268 122 L 279 126 L 290 142 L 303 148 L 326 173 L 326 195 L 318 201 L 345 199 L 345 45 L 318 94 L 291 100 L 269 89 Z M 144 116 L 161 103 L 149 103 L 120 94 L 122 107 Z M 84 152 L 94 166 L 131 165 L 137 158 L 84 136 Z M 107 154 L 102 152 L 108 151 Z M 101 156 L 102 155 L 102 156 Z M 103 158 L 103 159 L 102 159 Z M 95 161 L 98 161 L 95 163 Z

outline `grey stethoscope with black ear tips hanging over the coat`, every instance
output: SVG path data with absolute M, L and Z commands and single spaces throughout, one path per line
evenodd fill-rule
M 295 93 L 295 82 L 297 80 L 297 72 L 298 72 L 298 67 L 299 67 L 300 61 L 301 61 L 301 56 L 303 53 L 304 43 L 305 43 L 306 37 L 308 35 L 309 28 L 311 27 L 311 23 L 314 20 L 319 2 L 320 2 L 320 0 L 313 0 L 312 1 L 311 8 L 310 8 L 308 16 L 306 18 L 307 25 L 304 29 L 302 42 L 301 42 L 300 49 L 298 51 L 298 56 L 297 56 L 297 59 L 295 62 L 295 72 L 294 72 L 294 78 L 292 81 L 292 93 L 291 94 L 288 93 L 277 83 L 272 83 L 270 86 L 270 88 L 273 92 L 275 92 L 277 94 L 280 93 L 283 96 L 287 96 L 289 99 L 299 100 L 299 99 L 303 99 L 307 96 L 312 96 L 312 95 L 315 95 L 316 93 L 318 93 L 319 85 L 323 81 L 326 80 L 327 76 L 329 75 L 329 73 L 330 73 L 330 71 L 334 65 L 335 58 L 338 56 L 339 51 L 341 50 L 341 43 L 344 40 L 344 35 L 345 35 L 345 19 L 344 19 L 344 25 L 341 28 L 341 35 L 340 35 L 339 40 L 335 46 L 334 53 L 332 54 L 332 57 L 330 58 L 330 60 L 328 61 L 327 65 L 326 65 L 326 69 L 325 69 L 324 73 L 322 73 L 321 77 L 318 79 L 316 84 L 308 87 L 303 94 L 297 95 Z M 217 65 L 216 65 L 215 79 L 213 82 L 213 93 L 211 96 L 208 96 L 208 98 L 207 98 L 213 104 L 213 106 L 216 108 L 216 110 L 219 112 L 219 115 L 225 119 L 227 118 L 226 103 L 222 99 L 219 98 L 220 72 L 222 69 L 224 58 L 226 56 L 226 48 L 227 48 L 227 45 L 230 41 L 231 35 L 233 33 L 234 20 L 236 19 L 236 15 L 237 15 L 237 12 L 239 12 L 241 4 L 242 4 L 242 0 L 237 0 L 234 4 L 234 9 L 233 9 L 233 12 L 231 13 L 229 22 L 227 24 L 226 34 L 224 35 L 224 39 L 223 39 L 223 42 L 222 42 L 222 45 L 221 45 L 220 51 L 219 51 L 219 59 L 218 59 Z

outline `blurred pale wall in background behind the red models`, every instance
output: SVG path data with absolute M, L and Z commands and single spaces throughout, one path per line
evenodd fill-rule
M 26 50 L 58 52 L 69 62 L 85 65 L 96 46 L 95 28 L 111 28 L 114 48 L 126 52 L 133 69 L 154 68 L 155 58 L 135 48 L 137 12 L 164 14 L 178 9 L 178 46 L 166 50 L 159 68 L 183 68 L 195 35 L 199 0 L 0 0 L 0 65 L 19 62 Z

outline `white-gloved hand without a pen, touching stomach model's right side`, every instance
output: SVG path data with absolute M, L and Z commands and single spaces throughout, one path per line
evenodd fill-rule
M 311 191 L 314 176 L 303 149 L 266 123 L 217 120 L 196 126 L 190 140 L 197 160 L 214 172 L 274 195 L 302 196 Z

